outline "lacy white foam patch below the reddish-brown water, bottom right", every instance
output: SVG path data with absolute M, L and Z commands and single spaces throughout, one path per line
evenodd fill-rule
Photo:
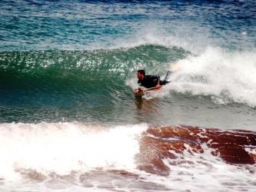
M 247 168 L 255 171 L 254 166 L 237 167 L 226 164 L 220 157 L 211 154 L 214 151 L 201 144 L 204 153 L 194 153 L 185 145 L 184 154 L 174 153 L 178 159 L 165 159 L 171 173 L 168 177 L 146 176 L 152 182 L 165 185 L 175 191 L 254 191 L 254 177 Z M 177 163 L 176 165 L 173 165 Z

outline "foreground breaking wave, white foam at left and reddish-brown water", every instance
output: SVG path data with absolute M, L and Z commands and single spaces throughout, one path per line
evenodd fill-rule
M 5 155 L 0 157 L 0 189 L 8 182 L 15 181 L 8 187 L 12 189 L 20 181 L 25 187 L 36 180 L 48 190 L 78 185 L 98 190 L 183 191 L 200 186 L 253 191 L 255 141 L 254 131 L 185 125 L 1 124 L 0 151 Z

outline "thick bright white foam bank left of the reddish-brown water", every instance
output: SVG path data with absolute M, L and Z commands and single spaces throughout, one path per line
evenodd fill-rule
M 0 177 L 19 179 L 23 170 L 49 175 L 95 168 L 135 169 L 138 134 L 147 125 L 1 124 Z

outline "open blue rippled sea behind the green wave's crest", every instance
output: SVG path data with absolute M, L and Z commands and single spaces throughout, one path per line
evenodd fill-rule
M 255 46 L 254 1 L 1 1 L 0 27 L 3 51 Z

